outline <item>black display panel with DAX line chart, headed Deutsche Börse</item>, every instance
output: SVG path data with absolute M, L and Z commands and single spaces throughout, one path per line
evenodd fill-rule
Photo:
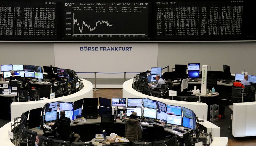
M 65 39 L 148 39 L 150 3 L 65 3 Z

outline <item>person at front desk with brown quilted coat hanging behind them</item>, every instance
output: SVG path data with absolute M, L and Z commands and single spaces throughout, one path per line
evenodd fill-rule
M 137 113 L 133 112 L 131 115 L 137 115 Z M 127 119 L 125 123 L 124 137 L 127 138 L 130 142 L 142 139 L 140 120 L 134 118 Z

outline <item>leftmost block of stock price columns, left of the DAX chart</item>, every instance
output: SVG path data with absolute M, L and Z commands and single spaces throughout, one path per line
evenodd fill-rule
M 55 39 L 56 3 L 1 2 L 0 39 Z

